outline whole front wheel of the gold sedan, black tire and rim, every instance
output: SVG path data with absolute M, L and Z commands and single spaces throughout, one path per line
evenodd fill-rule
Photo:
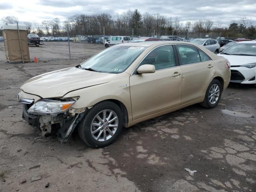
M 113 102 L 100 102 L 93 106 L 78 124 L 80 138 L 93 148 L 112 144 L 122 132 L 123 114 Z

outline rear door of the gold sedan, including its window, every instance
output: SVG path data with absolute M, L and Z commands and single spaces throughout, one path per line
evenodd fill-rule
M 215 66 L 198 48 L 185 44 L 175 46 L 182 70 L 181 104 L 185 104 L 204 96 L 214 76 Z

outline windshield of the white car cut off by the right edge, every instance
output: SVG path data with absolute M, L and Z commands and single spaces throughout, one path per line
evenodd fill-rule
M 226 48 L 221 54 L 256 56 L 256 43 L 237 43 Z

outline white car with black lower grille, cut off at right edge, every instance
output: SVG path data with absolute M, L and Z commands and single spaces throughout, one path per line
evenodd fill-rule
M 256 41 L 238 42 L 218 54 L 230 62 L 230 82 L 256 84 Z

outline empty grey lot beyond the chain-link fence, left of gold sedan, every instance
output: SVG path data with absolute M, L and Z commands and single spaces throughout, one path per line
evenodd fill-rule
M 43 42 L 44 45 L 29 46 L 30 60 L 35 57 L 39 61 L 66 60 L 69 59 L 68 42 Z M 104 49 L 103 44 L 90 44 L 87 42 L 70 42 L 71 59 L 84 59 Z M 0 61 L 6 61 L 4 42 L 0 42 Z

